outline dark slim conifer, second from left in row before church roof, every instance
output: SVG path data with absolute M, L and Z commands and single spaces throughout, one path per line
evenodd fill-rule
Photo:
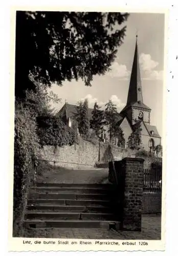
M 104 125 L 104 113 L 101 107 L 95 102 L 94 109 L 92 111 L 92 119 L 90 120 L 91 128 L 95 131 L 96 136 L 99 138 L 101 132 L 103 131 Z

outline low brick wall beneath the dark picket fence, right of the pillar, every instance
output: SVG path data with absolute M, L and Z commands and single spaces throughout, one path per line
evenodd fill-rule
M 143 193 L 142 214 L 160 214 L 161 200 L 161 193 Z

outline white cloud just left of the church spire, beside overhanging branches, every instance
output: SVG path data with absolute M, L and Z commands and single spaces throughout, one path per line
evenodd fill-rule
M 119 78 L 127 78 L 130 74 L 130 71 L 127 70 L 125 65 L 119 65 L 118 62 L 113 62 L 110 67 L 110 71 L 108 71 L 107 75 L 111 77 L 119 77 Z

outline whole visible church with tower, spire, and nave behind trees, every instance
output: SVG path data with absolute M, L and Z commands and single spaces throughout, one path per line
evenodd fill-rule
M 92 118 L 92 109 L 88 109 L 88 117 Z M 76 127 L 77 106 L 65 103 L 62 109 L 57 113 L 62 120 L 70 127 Z M 142 84 L 139 66 L 138 44 L 136 40 L 135 54 L 130 76 L 130 83 L 127 95 L 127 103 L 123 110 L 118 114 L 117 125 L 121 127 L 124 133 L 125 147 L 127 147 L 128 137 L 136 125 L 141 127 L 141 148 L 148 152 L 155 152 L 161 155 L 161 137 L 157 127 L 150 124 L 151 109 L 144 104 L 142 95 Z M 103 134 L 103 141 L 108 140 L 108 135 Z

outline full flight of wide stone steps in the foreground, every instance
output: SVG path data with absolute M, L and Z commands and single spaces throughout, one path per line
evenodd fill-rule
M 30 228 L 120 228 L 112 184 L 37 183 L 30 187 L 25 226 Z

